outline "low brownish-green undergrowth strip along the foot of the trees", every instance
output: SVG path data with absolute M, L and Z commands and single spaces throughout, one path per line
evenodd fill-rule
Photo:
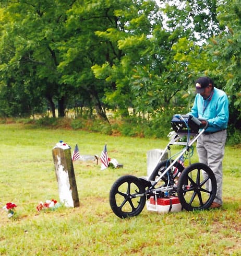
M 174 114 L 175 112 L 173 112 Z M 178 112 L 176 112 L 178 113 Z M 113 136 L 127 136 L 127 137 L 145 137 L 145 138 L 166 138 L 170 130 L 170 122 L 172 115 L 166 113 L 166 115 L 160 115 L 153 120 L 146 120 L 140 117 L 126 117 L 126 118 L 110 118 L 109 123 L 98 119 L 86 119 L 86 118 L 40 118 L 37 120 L 32 119 L 0 119 L 0 123 L 21 123 L 29 124 L 32 128 L 38 129 L 39 127 L 45 129 L 68 129 L 78 131 L 99 132 L 106 135 Z M 227 129 L 227 144 L 228 145 L 240 145 L 241 143 L 241 131 L 232 130 L 231 125 Z

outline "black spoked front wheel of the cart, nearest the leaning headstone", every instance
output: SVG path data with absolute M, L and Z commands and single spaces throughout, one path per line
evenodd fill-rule
M 127 175 L 117 179 L 110 191 L 112 211 L 119 218 L 140 214 L 146 203 L 146 196 L 140 196 L 144 192 L 144 185 L 135 176 Z

